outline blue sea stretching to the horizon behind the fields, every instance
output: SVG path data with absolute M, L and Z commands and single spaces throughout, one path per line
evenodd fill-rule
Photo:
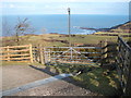
M 27 19 L 31 28 L 34 28 L 36 35 L 58 33 L 68 34 L 68 14 L 40 14 L 40 15 L 2 15 L 2 36 L 9 36 L 10 33 L 15 33 L 14 27 L 20 21 Z M 71 14 L 71 34 L 87 35 L 94 30 L 81 29 L 80 27 L 88 28 L 109 28 L 129 21 L 128 15 L 99 15 L 99 14 Z M 31 34 L 29 30 L 26 32 Z

